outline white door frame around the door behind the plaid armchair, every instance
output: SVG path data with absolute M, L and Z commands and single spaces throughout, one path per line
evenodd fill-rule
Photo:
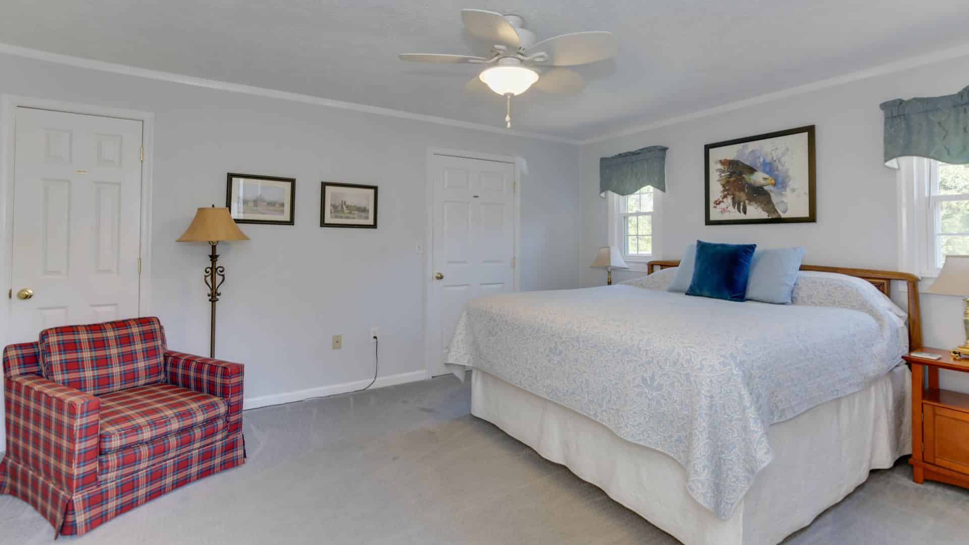
M 16 109 L 18 107 L 37 108 L 67 113 L 86 113 L 104 117 L 120 117 L 141 121 L 141 144 L 144 146 L 144 161 L 141 163 L 141 234 L 139 253 L 141 257 L 141 276 L 139 277 L 139 314 L 150 313 L 151 301 L 151 174 L 153 165 L 155 114 L 137 112 L 105 106 L 76 104 L 58 100 L 47 100 L 16 95 L 0 95 L 0 288 L 10 285 L 14 267 L 11 248 L 14 242 L 14 145 L 16 143 Z M 0 294 L 2 295 L 2 294 Z M 12 301 L 0 311 L 0 346 L 7 345 L 7 332 L 11 319 Z

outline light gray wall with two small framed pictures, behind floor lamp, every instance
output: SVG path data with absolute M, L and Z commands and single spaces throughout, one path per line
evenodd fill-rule
M 246 398 L 425 368 L 428 146 L 521 155 L 521 288 L 578 286 L 578 146 L 0 55 L 0 93 L 155 113 L 152 306 L 172 348 L 208 353 L 206 244 L 179 243 L 226 173 L 297 178 L 296 225 L 242 225 L 219 245 L 216 354 L 245 364 Z M 380 186 L 379 229 L 325 229 L 320 181 Z M 330 349 L 342 334 L 343 348 Z M 2 447 L 0 447 L 2 448 Z

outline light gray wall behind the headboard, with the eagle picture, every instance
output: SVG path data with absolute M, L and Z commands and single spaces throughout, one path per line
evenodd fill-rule
M 896 181 L 894 171 L 883 166 L 884 117 L 878 105 L 894 98 L 957 92 L 966 85 L 967 73 L 969 57 L 964 57 L 582 145 L 582 285 L 606 282 L 603 272 L 587 267 L 596 249 L 608 243 L 606 200 L 598 195 L 599 158 L 645 145 L 670 147 L 662 212 L 664 259 L 679 259 L 687 243 L 702 239 L 756 242 L 764 247 L 801 245 L 806 249 L 805 263 L 896 270 Z M 817 144 L 817 223 L 703 225 L 704 144 L 812 124 Z M 613 273 L 619 280 L 641 274 Z M 899 292 L 895 286 L 893 295 Z M 924 343 L 940 347 L 960 343 L 962 307 L 958 298 L 922 294 Z M 946 376 L 946 381 L 969 391 L 969 380 L 961 375 Z

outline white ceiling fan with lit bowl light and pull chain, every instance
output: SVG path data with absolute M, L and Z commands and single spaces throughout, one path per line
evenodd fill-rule
M 591 31 L 562 34 L 535 43 L 535 33 L 525 28 L 524 19 L 485 10 L 461 10 L 468 34 L 491 44 L 488 57 L 437 53 L 401 53 L 401 60 L 433 64 L 481 64 L 488 66 L 476 80 L 505 97 L 505 126 L 512 128 L 512 97 L 535 84 L 546 92 L 572 92 L 585 86 L 577 72 L 563 66 L 587 64 L 615 56 L 611 32 Z M 546 70 L 546 67 L 551 67 Z M 466 86 L 469 86 L 466 85 Z

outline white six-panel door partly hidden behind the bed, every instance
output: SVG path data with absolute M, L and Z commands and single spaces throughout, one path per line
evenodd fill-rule
M 431 161 L 427 335 L 430 371 L 438 375 L 448 372 L 444 359 L 464 303 L 515 289 L 515 166 L 438 154 Z

